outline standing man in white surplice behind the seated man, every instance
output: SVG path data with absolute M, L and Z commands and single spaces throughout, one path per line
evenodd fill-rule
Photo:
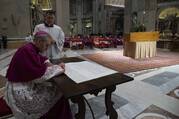
M 39 24 L 34 29 L 34 34 L 38 31 L 45 31 L 51 35 L 54 39 L 53 45 L 51 45 L 48 50 L 44 53 L 49 59 L 59 59 L 63 57 L 63 45 L 64 45 L 64 32 L 60 26 L 55 23 L 55 14 L 53 11 L 48 11 L 45 14 L 45 21 Z

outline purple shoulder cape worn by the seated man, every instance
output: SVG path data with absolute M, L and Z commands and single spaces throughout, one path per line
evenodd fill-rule
M 40 78 L 47 69 L 45 60 L 46 57 L 31 48 L 21 48 L 12 58 L 6 77 L 14 82 L 27 82 Z

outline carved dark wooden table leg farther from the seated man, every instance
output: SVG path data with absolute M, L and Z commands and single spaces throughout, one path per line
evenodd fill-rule
M 113 102 L 111 101 L 112 92 L 116 90 L 116 86 L 106 88 L 105 93 L 105 105 L 106 105 L 106 115 L 109 116 L 110 119 L 117 119 L 118 114 L 113 107 Z

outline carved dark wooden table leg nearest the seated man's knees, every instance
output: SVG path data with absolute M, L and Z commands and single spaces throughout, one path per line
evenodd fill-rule
M 76 119 L 85 119 L 86 106 L 83 96 L 77 96 L 71 99 L 73 103 L 78 105 L 78 113 L 75 114 Z

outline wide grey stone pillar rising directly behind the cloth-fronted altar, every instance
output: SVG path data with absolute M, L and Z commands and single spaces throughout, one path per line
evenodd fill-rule
M 131 31 L 132 14 L 134 12 L 137 13 L 138 24 L 143 24 L 146 27 L 146 31 L 155 30 L 157 0 L 125 0 L 125 33 L 129 33 Z

